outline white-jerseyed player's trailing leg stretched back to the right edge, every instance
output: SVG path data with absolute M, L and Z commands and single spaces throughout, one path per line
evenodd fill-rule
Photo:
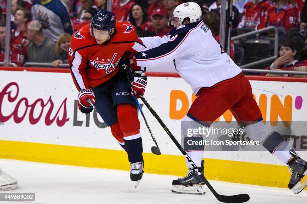
M 238 123 L 245 126 L 247 136 L 255 141 L 259 141 L 272 155 L 276 156 L 292 170 L 292 176 L 288 187 L 294 193 L 299 193 L 307 186 L 307 182 L 301 184 L 300 181 L 307 174 L 307 163 L 301 159 L 294 150 L 290 150 L 288 142 L 280 133 L 269 129 L 262 122 L 260 109 L 252 96 L 249 81 L 243 77 L 234 87 L 243 93 L 242 98 L 230 110 Z

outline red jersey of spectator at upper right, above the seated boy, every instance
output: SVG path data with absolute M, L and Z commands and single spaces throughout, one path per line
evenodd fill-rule
M 289 31 L 290 28 L 298 24 L 299 12 L 296 4 L 284 5 L 278 9 L 277 3 L 272 3 L 267 9 L 266 16 L 261 18 L 260 24 L 257 29 L 262 29 L 268 26 L 275 26 L 285 28 L 285 31 Z

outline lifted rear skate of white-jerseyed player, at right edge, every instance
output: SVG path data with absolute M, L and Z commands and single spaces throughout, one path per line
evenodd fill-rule
M 288 188 L 298 194 L 307 186 L 307 181 L 301 183 L 302 178 L 307 174 L 307 162 L 301 159 L 293 149 L 290 150 L 290 154 L 294 158 L 287 163 L 292 173 Z

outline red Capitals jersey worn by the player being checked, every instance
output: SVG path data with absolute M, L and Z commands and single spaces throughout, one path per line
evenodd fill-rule
M 125 53 L 144 51 L 134 26 L 128 22 L 116 22 L 115 32 L 104 44 L 97 44 L 90 34 L 90 25 L 84 25 L 73 33 L 68 61 L 77 89 L 88 89 L 112 78 L 117 64 Z

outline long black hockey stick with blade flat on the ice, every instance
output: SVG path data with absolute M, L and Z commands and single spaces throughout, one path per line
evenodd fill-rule
M 173 136 L 173 134 L 170 132 L 170 130 L 167 128 L 167 126 L 163 123 L 163 121 L 160 119 L 160 117 L 157 115 L 154 109 L 149 105 L 147 100 L 144 98 L 144 96 L 140 95 L 141 100 L 146 105 L 146 107 L 149 109 L 152 115 L 157 119 L 159 124 L 162 126 L 162 128 L 165 130 L 165 132 L 169 135 L 169 137 L 172 139 L 172 141 L 175 143 L 177 148 L 181 151 L 181 153 L 186 157 L 189 163 L 193 166 L 194 171 L 200 175 L 203 179 L 203 181 L 208 186 L 209 190 L 214 194 L 214 196 L 220 201 L 220 202 L 226 202 L 226 203 L 242 203 L 247 202 L 249 200 L 248 194 L 239 194 L 239 195 L 220 195 L 218 194 L 214 188 L 211 186 L 211 184 L 208 182 L 208 180 L 205 178 L 205 176 L 198 171 L 197 166 L 192 161 L 192 159 L 189 157 L 189 155 L 185 152 L 185 150 L 181 147 L 181 145 L 178 143 L 176 138 Z

